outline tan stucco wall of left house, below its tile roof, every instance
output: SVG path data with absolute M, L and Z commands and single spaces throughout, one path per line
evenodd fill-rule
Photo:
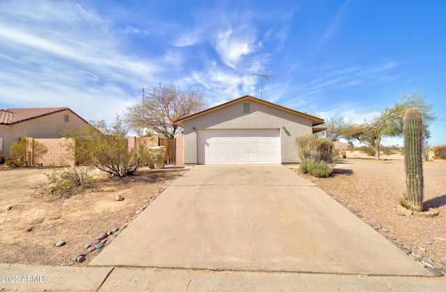
M 65 115 L 69 122 L 65 122 Z M 80 131 L 85 129 L 87 123 L 72 111 L 60 111 L 36 117 L 17 124 L 0 124 L 0 137 L 3 139 L 2 152 L 8 156 L 10 146 L 22 137 L 30 138 L 61 138 L 61 133 L 68 129 Z

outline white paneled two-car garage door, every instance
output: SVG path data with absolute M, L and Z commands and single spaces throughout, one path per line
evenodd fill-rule
M 278 164 L 279 129 L 198 131 L 199 164 Z

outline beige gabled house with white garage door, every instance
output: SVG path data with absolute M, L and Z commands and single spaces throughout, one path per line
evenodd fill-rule
M 185 164 L 297 163 L 297 136 L 323 119 L 246 95 L 177 120 Z

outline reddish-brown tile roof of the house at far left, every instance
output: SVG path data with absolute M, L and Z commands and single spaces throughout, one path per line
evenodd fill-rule
M 15 124 L 31 120 L 35 117 L 57 113 L 59 111 L 71 111 L 70 108 L 0 108 L 0 124 Z

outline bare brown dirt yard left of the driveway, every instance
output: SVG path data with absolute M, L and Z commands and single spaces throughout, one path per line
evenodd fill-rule
M 70 265 L 72 257 L 86 254 L 84 246 L 102 232 L 125 228 L 185 168 L 141 169 L 120 179 L 94 173 L 93 186 L 72 195 L 47 189 L 51 169 L 0 168 L 0 263 Z M 115 201 L 116 195 L 124 197 Z M 56 247 L 57 241 L 66 245 Z M 86 260 L 75 263 L 86 266 Z

